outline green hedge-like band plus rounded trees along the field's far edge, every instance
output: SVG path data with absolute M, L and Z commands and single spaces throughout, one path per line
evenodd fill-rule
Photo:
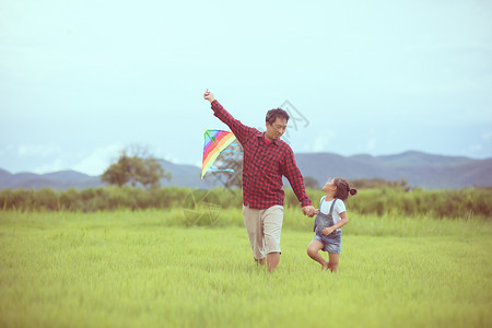
M 171 178 L 159 161 L 142 147 L 128 147 L 116 163 L 102 175 L 108 187 L 54 190 L 51 188 L 0 190 L 0 209 L 20 211 L 113 211 L 119 209 L 176 209 L 189 208 L 207 196 L 220 208 L 241 208 L 242 165 L 241 148 L 218 162 L 219 167 L 234 168 L 232 175 L 220 175 L 223 188 L 198 190 L 180 187 L 160 187 L 162 178 Z M 432 215 L 436 218 L 492 218 L 492 188 L 465 188 L 459 190 L 411 189 L 405 179 L 387 181 L 380 178 L 352 179 L 359 189 L 348 199 L 351 212 L 362 214 Z M 324 196 L 319 183 L 305 177 L 306 191 L 315 207 Z M 291 188 L 285 189 L 286 208 L 300 207 Z M 214 196 L 214 197 L 210 197 Z M 210 202 L 210 200 L 207 200 Z

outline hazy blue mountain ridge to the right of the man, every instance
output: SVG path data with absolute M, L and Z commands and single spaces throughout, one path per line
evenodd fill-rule
M 429 189 L 492 186 L 492 159 L 472 160 L 415 151 L 398 155 L 349 157 L 331 153 L 308 153 L 296 154 L 295 159 L 303 175 L 312 176 L 319 183 L 325 183 L 329 176 L 349 180 L 405 178 L 412 187 Z

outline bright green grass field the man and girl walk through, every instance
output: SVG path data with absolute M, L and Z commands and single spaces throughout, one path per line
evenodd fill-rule
M 0 327 L 492 326 L 487 221 L 349 214 L 332 274 L 306 255 L 312 219 L 288 210 L 270 274 L 241 211 L 221 218 L 0 212 Z

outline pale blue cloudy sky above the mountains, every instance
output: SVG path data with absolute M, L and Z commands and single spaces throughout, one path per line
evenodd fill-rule
M 0 0 L 0 168 L 201 166 L 207 89 L 261 130 L 283 106 L 294 153 L 489 159 L 492 1 Z

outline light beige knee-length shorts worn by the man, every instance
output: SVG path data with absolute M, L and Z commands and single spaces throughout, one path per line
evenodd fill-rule
M 272 206 L 266 210 L 255 210 L 243 204 L 243 215 L 255 259 L 262 259 L 270 253 L 281 253 L 282 206 Z

